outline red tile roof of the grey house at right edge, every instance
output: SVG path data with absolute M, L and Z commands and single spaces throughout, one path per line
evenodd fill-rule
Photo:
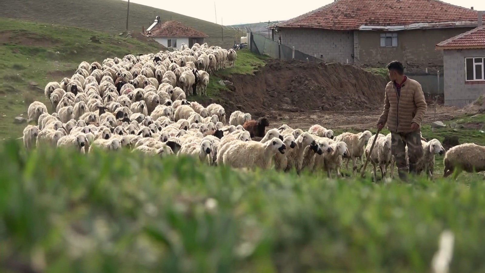
M 436 49 L 483 49 L 485 48 L 485 25 L 444 40 Z

